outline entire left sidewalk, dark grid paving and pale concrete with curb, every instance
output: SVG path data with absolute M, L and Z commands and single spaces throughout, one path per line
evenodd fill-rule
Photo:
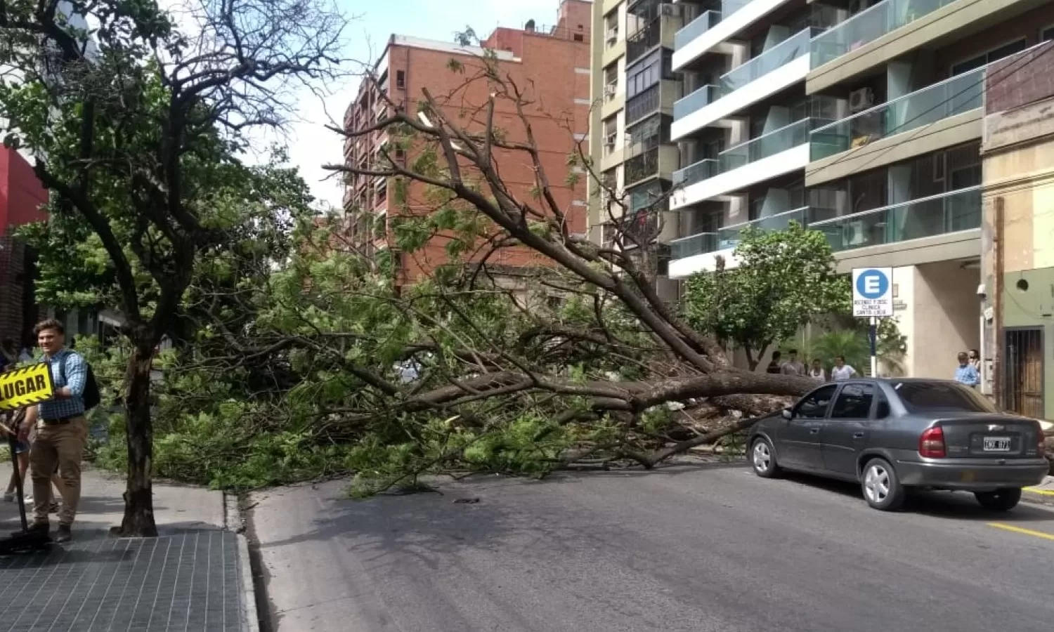
M 9 476 L 11 463 L 0 467 L 0 482 L 6 486 Z M 120 524 L 123 489 L 119 478 L 85 470 L 74 540 L 0 557 L 0 627 L 255 630 L 245 538 L 223 529 L 223 494 L 155 483 L 159 537 L 115 538 L 109 530 Z M 18 505 L 0 502 L 0 533 L 18 529 Z

